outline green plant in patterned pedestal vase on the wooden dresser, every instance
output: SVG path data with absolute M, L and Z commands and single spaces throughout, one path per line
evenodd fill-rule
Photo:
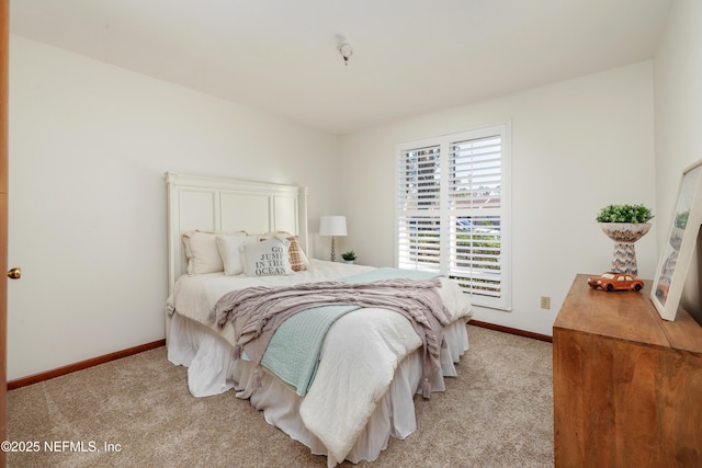
M 614 241 L 612 272 L 632 276 L 638 274 L 634 242 L 650 229 L 654 215 L 644 205 L 608 205 L 600 209 L 596 220 L 602 231 Z

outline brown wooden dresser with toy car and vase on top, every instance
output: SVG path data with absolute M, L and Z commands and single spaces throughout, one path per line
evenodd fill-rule
M 702 328 L 578 274 L 553 326 L 557 467 L 702 467 Z

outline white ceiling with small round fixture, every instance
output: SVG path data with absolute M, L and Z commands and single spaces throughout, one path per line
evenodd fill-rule
M 342 135 L 652 58 L 670 2 L 15 0 L 10 31 Z

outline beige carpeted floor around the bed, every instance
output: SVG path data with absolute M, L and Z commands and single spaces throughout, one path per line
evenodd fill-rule
M 358 466 L 553 466 L 552 345 L 472 326 L 446 391 L 416 398 L 417 432 Z M 248 401 L 195 399 L 185 378 L 161 347 L 12 390 L 8 438 L 34 452 L 8 466 L 326 467 Z

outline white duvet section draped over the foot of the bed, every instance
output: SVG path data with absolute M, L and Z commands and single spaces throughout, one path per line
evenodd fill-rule
M 299 407 L 305 425 L 333 457 L 330 466 L 346 458 L 399 362 L 421 346 L 409 320 L 392 310 L 361 309 L 338 322 L 327 333 L 324 357 Z

